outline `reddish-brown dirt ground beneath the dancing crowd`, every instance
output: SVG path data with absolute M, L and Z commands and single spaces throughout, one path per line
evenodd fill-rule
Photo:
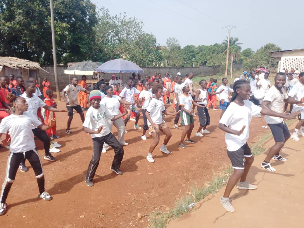
M 64 102 L 58 104 L 65 108 Z M 168 110 L 173 111 L 168 105 Z M 149 216 L 137 218 L 137 213 L 149 215 L 154 210 L 168 210 L 180 193 L 196 183 L 203 184 L 212 178 L 213 172 L 222 169 L 229 159 L 226 153 L 224 133 L 219 130 L 219 111 L 210 110 L 211 124 L 207 127 L 210 134 L 195 136 L 199 127 L 198 116 L 192 139 L 196 143 L 188 144 L 187 149 L 178 147 L 178 141 L 184 127 L 172 128 L 172 116 L 165 121 L 171 128 L 172 138 L 168 149 L 172 154 L 159 151 L 164 135 L 154 151 L 155 163 L 149 163 L 146 155 L 152 142 L 141 140 L 142 130 L 133 129 L 130 121 L 125 134 L 124 158 L 121 164 L 123 175 L 109 170 L 113 159 L 113 150 L 102 154 L 98 170 L 93 180 L 94 186 L 85 184 L 85 173 L 92 157 L 92 139 L 81 127 L 77 113 L 71 125 L 72 135 L 65 133 L 67 114 L 56 113 L 56 140 L 61 152 L 53 154 L 57 161 L 43 160 L 43 144 L 36 140 L 37 150 L 42 159 L 45 187 L 54 199 L 46 202 L 38 199 L 38 187 L 33 169 L 26 173 L 17 172 L 16 180 L 7 199 L 7 213 L 0 217 L 1 227 L 147 227 Z M 139 125 L 143 125 L 142 117 Z M 264 118 L 254 118 L 250 126 L 249 143 L 257 142 L 261 135 L 269 132 L 265 129 Z M 117 130 L 113 128 L 117 136 Z M 149 137 L 148 137 L 149 136 Z M 0 150 L 0 181 L 5 178 L 5 169 L 9 151 Z

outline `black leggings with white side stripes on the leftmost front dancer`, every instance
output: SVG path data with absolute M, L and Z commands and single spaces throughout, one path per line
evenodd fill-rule
M 37 150 L 29 150 L 24 153 L 10 153 L 9 159 L 7 161 L 7 168 L 5 174 L 5 180 L 2 185 L 2 191 L 0 196 L 0 203 L 5 203 L 7 195 L 9 194 L 9 190 L 12 187 L 13 182 L 15 181 L 16 173 L 22 159 L 26 158 L 29 163 L 31 164 L 34 173 L 37 178 L 39 193 L 44 192 L 44 176 L 43 176 L 43 169 L 42 163 L 37 153 Z

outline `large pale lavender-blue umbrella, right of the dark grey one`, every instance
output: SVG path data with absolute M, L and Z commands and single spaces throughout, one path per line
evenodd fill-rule
M 135 63 L 124 59 L 113 59 L 105 62 L 96 69 L 96 72 L 104 73 L 119 73 L 119 80 L 121 80 L 120 73 L 143 73 L 143 69 Z

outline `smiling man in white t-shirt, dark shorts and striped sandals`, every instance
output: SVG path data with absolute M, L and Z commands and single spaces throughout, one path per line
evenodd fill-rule
M 283 89 L 285 83 L 285 74 L 281 72 L 276 74 L 275 85 L 268 90 L 262 102 L 263 109 L 271 109 L 274 112 L 281 113 L 283 111 L 284 102 L 291 104 L 299 104 L 304 102 L 304 99 L 301 102 L 292 97 L 288 97 Z M 275 172 L 275 168 L 270 165 L 270 159 L 287 161 L 287 159 L 282 157 L 279 153 L 282 147 L 285 145 L 285 142 L 289 139 L 290 133 L 283 118 L 265 116 L 265 122 L 270 127 L 271 133 L 275 139 L 275 145 L 270 148 L 268 155 L 261 164 L 261 167 L 268 171 Z

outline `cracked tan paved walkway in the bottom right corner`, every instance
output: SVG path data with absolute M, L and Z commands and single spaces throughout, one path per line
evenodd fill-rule
M 295 123 L 288 126 L 289 130 L 294 126 Z M 304 227 L 304 136 L 300 140 L 286 142 L 281 154 L 287 161 L 271 162 L 276 172 L 260 167 L 265 154 L 255 157 L 247 180 L 258 188 L 233 189 L 230 198 L 236 212 L 227 212 L 219 203 L 225 189 L 222 188 L 200 201 L 192 212 L 172 220 L 168 227 Z M 265 148 L 273 144 L 271 139 Z

